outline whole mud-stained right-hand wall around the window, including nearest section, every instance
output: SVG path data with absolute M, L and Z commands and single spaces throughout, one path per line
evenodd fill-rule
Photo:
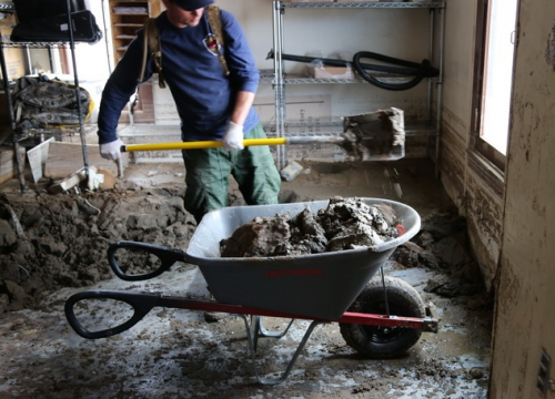
M 470 242 L 496 294 L 488 398 L 539 398 L 541 351 L 555 356 L 555 62 L 547 57 L 555 54 L 555 4 L 521 0 L 511 140 L 501 178 L 470 146 L 476 4 L 447 0 L 442 182 L 467 216 Z

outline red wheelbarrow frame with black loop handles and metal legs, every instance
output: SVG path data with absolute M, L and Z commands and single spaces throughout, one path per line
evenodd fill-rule
M 117 262 L 115 253 L 119 249 L 132 249 L 132 250 L 144 250 L 148 254 L 154 255 L 159 258 L 159 267 L 145 274 L 140 275 L 128 275 L 127 269 L 122 269 Z M 193 263 L 194 259 L 191 258 L 186 253 L 176 248 L 162 247 L 158 245 L 147 244 L 147 243 L 135 243 L 135 242 L 118 242 L 110 246 L 108 249 L 108 260 L 114 272 L 114 274 L 128 282 L 139 282 L 148 280 L 168 272 L 172 265 L 176 262 Z M 382 272 L 383 274 L 383 272 Z M 74 306 L 81 300 L 87 299 L 111 299 L 117 301 L 123 301 L 133 308 L 132 317 L 115 326 L 113 328 L 89 331 L 84 328 L 75 317 Z M 431 310 L 426 308 L 426 317 L 414 318 L 414 317 L 402 317 L 390 315 L 375 315 L 375 314 L 362 314 L 362 313 L 351 313 L 344 311 L 341 317 L 336 319 L 324 319 L 314 316 L 297 315 L 291 313 L 266 310 L 255 307 L 249 307 L 243 305 L 233 305 L 214 300 L 203 300 L 203 299 L 192 299 L 188 297 L 172 297 L 164 296 L 158 293 L 132 293 L 132 291 L 109 291 L 109 290 L 88 290 L 82 293 L 77 293 L 72 295 L 65 301 L 65 317 L 70 326 L 75 330 L 78 335 L 87 339 L 98 339 L 107 338 L 120 332 L 123 332 L 135 324 L 138 324 L 149 311 L 154 307 L 164 308 L 175 308 L 175 309 L 189 309 L 189 310 L 201 310 L 201 311 L 218 311 L 239 315 L 243 318 L 246 331 L 246 338 L 249 341 L 249 349 L 251 352 L 251 358 L 254 366 L 254 372 L 256 379 L 260 383 L 264 385 L 275 385 L 284 381 L 291 369 L 293 368 L 296 358 L 301 354 L 304 345 L 309 340 L 314 328 L 321 324 L 329 323 L 340 323 L 340 324 L 356 324 L 366 325 L 374 327 L 385 327 L 385 328 L 410 328 L 428 332 L 437 332 L 437 319 L 431 314 Z M 250 316 L 248 318 L 246 316 Z M 262 317 L 276 317 L 291 319 L 289 326 L 284 331 L 269 331 L 262 325 Z M 281 338 L 283 337 L 293 321 L 295 319 L 312 320 L 309 328 L 306 329 L 303 339 L 299 344 L 292 359 L 290 360 L 286 369 L 278 378 L 265 378 L 261 377 L 256 368 L 255 352 L 258 347 L 259 337 L 271 337 Z

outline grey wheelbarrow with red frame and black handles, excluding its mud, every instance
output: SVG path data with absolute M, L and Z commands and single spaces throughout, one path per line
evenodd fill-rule
M 437 319 L 418 293 L 398 278 L 385 277 L 383 264 L 395 248 L 418 231 L 418 214 L 410 206 L 386 200 L 362 198 L 369 205 L 385 204 L 403 221 L 405 232 L 377 248 L 357 248 L 302 256 L 222 258 L 220 242 L 254 217 L 312 213 L 327 201 L 226 207 L 208 213 L 186 250 L 148 243 L 118 242 L 108 249 L 114 274 L 128 282 L 160 276 L 175 263 L 196 265 L 215 300 L 171 297 L 152 293 L 88 290 L 72 295 L 64 306 L 74 331 L 83 338 L 107 338 L 138 324 L 154 307 L 219 311 L 244 320 L 256 380 L 284 381 L 314 328 L 339 323 L 346 344 L 367 358 L 397 357 L 414 346 L 423 331 L 437 332 Z M 381 269 L 381 278 L 376 276 Z M 88 325 L 89 300 L 111 300 L 129 308 L 110 327 Z M 79 317 L 78 317 L 79 316 Z M 250 316 L 250 317 L 248 317 Z M 264 328 L 263 317 L 289 319 L 284 331 Z M 260 376 L 256 348 L 260 337 L 283 337 L 295 319 L 312 320 L 285 370 L 278 378 Z

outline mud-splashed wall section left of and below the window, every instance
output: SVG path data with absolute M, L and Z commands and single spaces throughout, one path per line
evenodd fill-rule
M 442 182 L 462 215 L 488 289 L 497 272 L 503 174 L 472 146 L 477 0 L 447 0 L 441 132 Z

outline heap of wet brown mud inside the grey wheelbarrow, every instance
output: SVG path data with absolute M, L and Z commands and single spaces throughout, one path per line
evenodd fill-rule
M 403 233 L 393 209 L 360 198 L 334 197 L 313 214 L 255 217 L 221 242 L 222 257 L 295 256 L 369 247 Z

